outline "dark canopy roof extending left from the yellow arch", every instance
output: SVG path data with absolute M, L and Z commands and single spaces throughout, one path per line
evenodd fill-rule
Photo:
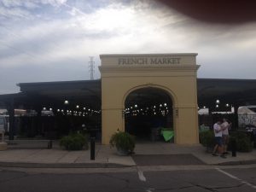
M 15 99 L 15 107 L 62 108 L 64 101 L 69 108 L 77 105 L 101 108 L 101 80 L 60 81 L 40 83 L 20 83 L 20 93 L 0 96 L 0 101 Z

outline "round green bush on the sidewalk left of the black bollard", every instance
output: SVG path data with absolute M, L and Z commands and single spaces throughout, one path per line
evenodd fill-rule
M 80 133 L 71 133 L 68 136 L 61 137 L 60 145 L 67 150 L 88 149 L 88 137 Z

